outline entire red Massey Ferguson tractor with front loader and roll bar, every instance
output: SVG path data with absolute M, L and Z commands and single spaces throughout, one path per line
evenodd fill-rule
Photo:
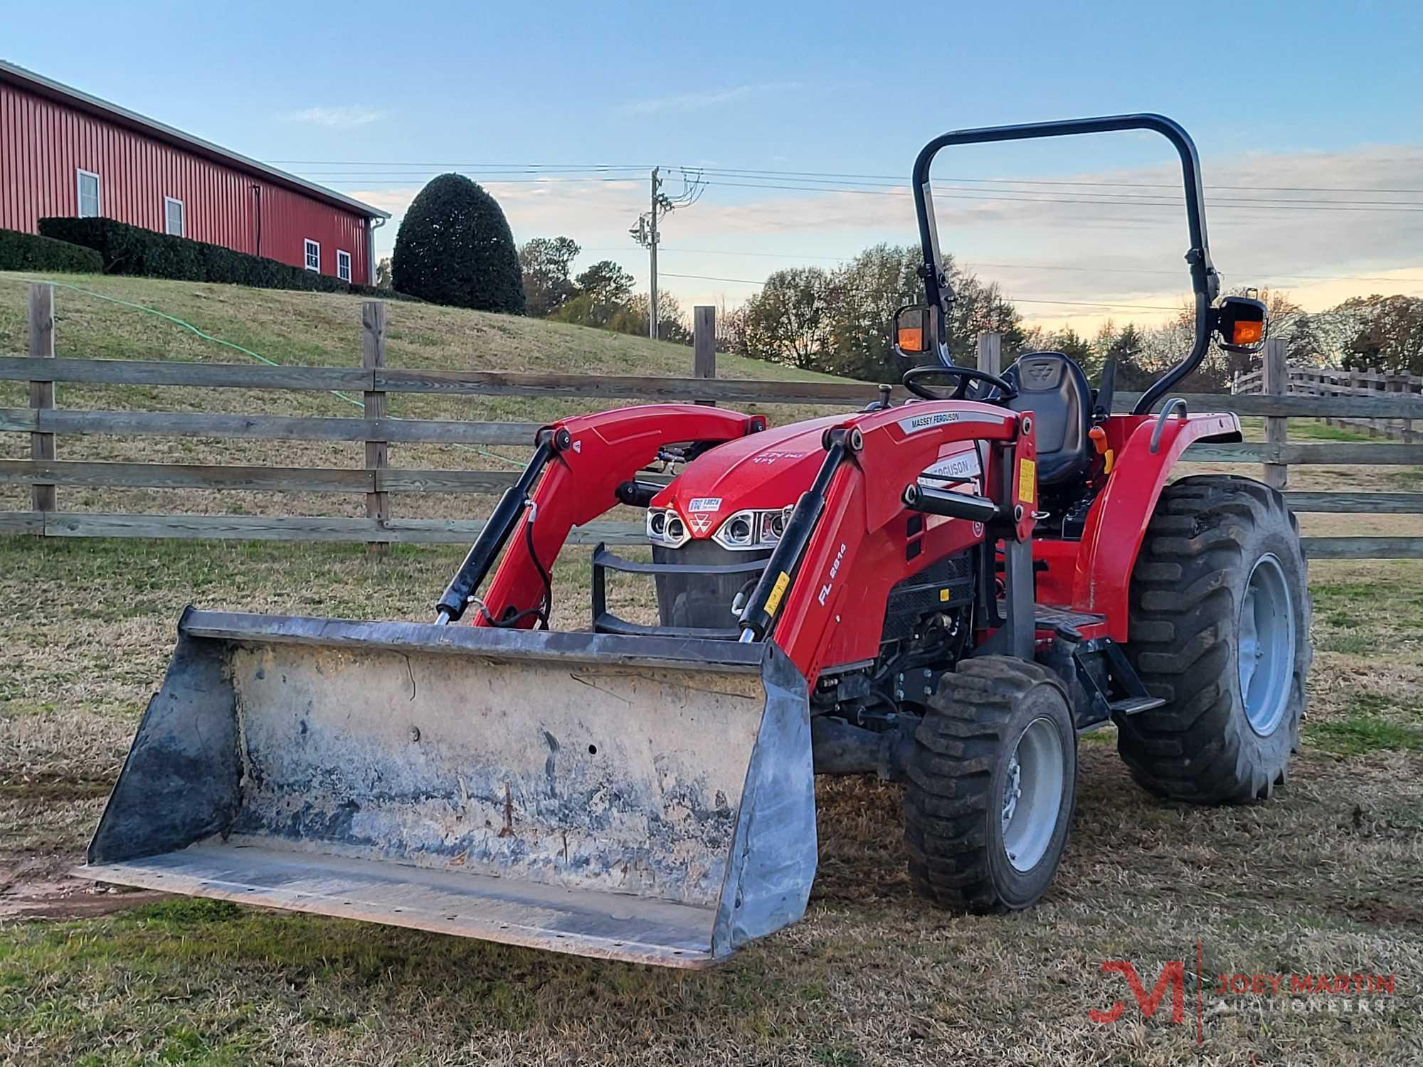
M 1181 158 L 1191 353 L 1131 414 L 1110 366 L 1096 388 L 1059 353 L 953 366 L 936 152 L 1117 129 Z M 554 423 L 430 623 L 189 609 L 83 872 L 696 967 L 804 912 L 817 774 L 904 782 L 915 889 L 970 912 L 1047 891 L 1083 731 L 1114 723 L 1157 795 L 1268 798 L 1309 667 L 1294 519 L 1249 479 L 1167 484 L 1192 442 L 1239 440 L 1171 388 L 1212 336 L 1265 334 L 1259 302 L 1218 297 L 1194 145 L 1160 115 L 958 131 L 914 193 L 909 400 Z M 586 629 L 548 629 L 565 541 L 618 505 L 652 561 L 599 545 Z M 656 623 L 609 607 L 613 573 L 652 583 Z

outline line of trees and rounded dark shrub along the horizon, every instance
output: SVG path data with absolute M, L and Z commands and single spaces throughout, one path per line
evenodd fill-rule
M 517 248 L 498 202 L 468 178 L 447 174 L 416 196 L 394 255 L 377 267 L 377 282 L 434 303 L 647 336 L 647 294 L 633 292 L 632 275 L 610 259 L 575 275 L 581 252 L 566 236 L 534 238 Z M 803 370 L 895 381 L 911 364 L 894 351 L 891 319 L 904 304 L 922 300 L 921 266 L 918 246 L 881 243 L 835 267 L 776 270 L 744 303 L 720 310 L 719 347 Z M 1114 360 L 1118 387 L 1140 390 L 1190 351 L 1190 307 L 1163 324 L 1109 320 L 1084 337 L 1072 329 L 1030 326 L 996 282 L 980 280 L 953 256 L 945 258 L 945 267 L 955 293 L 946 334 L 956 363 L 972 364 L 978 334 L 996 331 L 1005 357 L 1062 351 L 1089 377 Z M 1269 307 L 1271 336 L 1285 340 L 1291 363 L 1423 374 L 1420 297 L 1350 297 L 1309 313 L 1288 293 L 1258 294 Z M 692 343 L 687 317 L 670 293 L 657 299 L 657 333 L 662 340 Z M 1258 354 L 1212 349 L 1183 388 L 1220 391 L 1235 374 L 1258 367 Z

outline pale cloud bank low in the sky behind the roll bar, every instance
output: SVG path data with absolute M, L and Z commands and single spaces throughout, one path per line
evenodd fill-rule
M 1339 201 L 1339 208 L 1363 201 L 1407 201 L 1423 196 L 1393 192 L 1423 188 L 1423 147 L 1365 147 L 1349 152 L 1289 154 L 1204 162 L 1211 253 L 1227 286 L 1258 285 L 1288 290 L 1311 310 L 1331 307 L 1349 296 L 1370 292 L 1423 294 L 1423 211 L 1387 205 L 1392 211 L 1285 211 L 1289 199 Z M 1164 184 L 1167 188 L 1117 186 L 1118 193 L 1151 196 L 1107 203 L 1111 189 L 1047 186 L 1036 201 L 1009 199 L 1005 186 L 986 184 L 961 192 L 948 178 L 936 184 L 939 235 L 945 248 L 996 280 L 1019 300 L 1025 317 L 1047 326 L 1072 323 L 1094 329 L 1101 319 L 1118 322 L 1167 319 L 1171 310 L 1091 307 L 1093 303 L 1154 304 L 1175 309 L 1188 294 L 1183 253 L 1187 248 L 1184 209 L 1178 196 L 1180 171 L 1171 166 L 1054 175 L 1056 181 Z M 1238 186 L 1238 188 L 1227 188 Z M 1299 191 L 1279 186 L 1331 186 L 1349 192 Z M 588 249 L 591 259 L 613 256 L 645 279 L 643 253 L 626 230 L 646 206 L 647 186 L 629 182 L 499 184 L 485 188 L 508 215 L 515 239 L 566 233 Z M 1007 186 L 1016 188 L 1016 186 Z M 1355 192 L 1358 191 L 1358 192 Z M 418 188 L 351 192 L 357 199 L 401 213 Z M 949 199 L 949 196 L 1003 199 Z M 1274 206 L 1241 205 L 1268 199 Z M 1066 201 L 1066 202 L 1049 202 Z M 1080 201 L 1080 202 L 1079 202 Z M 1231 205 L 1231 206 L 1228 206 Z M 1299 208 L 1328 205 L 1302 203 Z M 398 218 L 383 233 L 394 242 Z M 914 243 L 916 225 L 908 195 L 851 192 L 764 192 L 717 186 L 665 225 L 669 255 L 663 269 L 733 279 L 760 279 L 780 266 L 821 263 L 817 256 L 847 259 L 864 246 L 888 240 Z M 746 248 L 763 253 L 694 256 L 677 250 Z M 626 255 L 616 249 L 626 248 Z M 784 253 L 767 259 L 764 253 Z M 798 259 L 800 258 L 800 259 Z M 1323 276 L 1323 277 L 1321 277 Z M 1377 279 L 1377 280 L 1372 280 Z M 700 280 L 665 283 L 690 306 L 754 292 L 750 286 Z M 1032 300 L 1083 302 L 1077 306 Z

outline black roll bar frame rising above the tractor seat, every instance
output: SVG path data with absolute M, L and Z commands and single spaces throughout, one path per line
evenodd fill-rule
M 1185 262 L 1191 270 L 1191 292 L 1195 293 L 1195 343 L 1190 354 L 1168 370 L 1160 381 L 1141 394 L 1134 414 L 1146 414 L 1175 383 L 1195 370 L 1211 346 L 1211 303 L 1221 292 L 1221 279 L 1211 265 L 1211 250 L 1205 239 L 1205 206 L 1201 191 L 1201 161 L 1195 155 L 1191 135 L 1165 115 L 1103 115 L 1100 118 L 1070 118 L 1060 122 L 1025 122 L 1013 127 L 982 127 L 953 129 L 941 134 L 924 147 L 914 161 L 914 208 L 919 215 L 919 243 L 924 248 L 924 290 L 926 303 L 939 309 L 938 357 L 946 367 L 953 366 L 945 340 L 945 323 L 953 289 L 939 255 L 939 233 L 933 219 L 933 191 L 929 186 L 929 166 L 941 148 L 949 145 L 978 145 L 993 141 L 1032 141 L 1040 137 L 1072 137 L 1074 134 L 1109 134 L 1120 129 L 1151 129 L 1175 145 L 1181 156 L 1181 178 L 1185 185 L 1185 223 L 1191 248 Z

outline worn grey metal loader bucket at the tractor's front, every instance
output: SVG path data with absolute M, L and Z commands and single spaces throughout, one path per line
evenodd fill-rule
M 801 916 L 770 643 L 188 609 L 88 878 L 696 967 Z

